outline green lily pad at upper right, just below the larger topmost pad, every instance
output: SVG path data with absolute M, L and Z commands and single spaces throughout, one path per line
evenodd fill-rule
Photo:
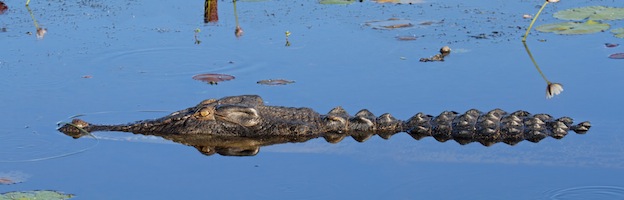
M 552 32 L 556 34 L 573 35 L 573 34 L 590 34 L 601 32 L 609 29 L 609 24 L 600 23 L 594 20 L 586 22 L 561 22 L 554 24 L 545 24 L 538 26 L 535 30 L 541 32 Z

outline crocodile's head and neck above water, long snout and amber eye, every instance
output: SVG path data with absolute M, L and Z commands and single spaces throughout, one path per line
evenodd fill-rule
M 261 97 L 243 95 L 208 99 L 165 117 L 125 125 L 94 125 L 75 119 L 59 130 L 74 138 L 82 132 L 124 131 L 167 135 L 309 135 L 317 133 L 320 115 L 308 108 L 265 106 Z

